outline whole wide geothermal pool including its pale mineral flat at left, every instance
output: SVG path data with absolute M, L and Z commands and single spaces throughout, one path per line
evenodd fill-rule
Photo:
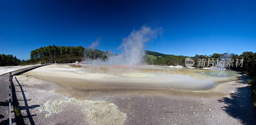
M 27 73 L 32 77 L 79 90 L 210 89 L 236 80 L 239 72 L 180 66 L 49 65 Z

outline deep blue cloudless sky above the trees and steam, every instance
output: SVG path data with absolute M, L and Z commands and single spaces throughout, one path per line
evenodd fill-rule
M 116 48 L 143 25 L 163 28 L 146 50 L 164 54 L 256 52 L 256 1 L 1 1 L 0 53 L 29 59 L 41 46 Z

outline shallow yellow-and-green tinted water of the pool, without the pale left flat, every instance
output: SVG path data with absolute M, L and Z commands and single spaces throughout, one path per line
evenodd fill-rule
M 236 76 L 240 75 L 239 72 L 231 70 L 213 71 L 169 66 L 72 65 L 71 67 L 80 68 L 75 73 L 90 75 L 90 81 L 97 81 L 102 86 L 106 83 L 115 87 L 134 88 L 209 89 L 218 83 L 235 80 Z

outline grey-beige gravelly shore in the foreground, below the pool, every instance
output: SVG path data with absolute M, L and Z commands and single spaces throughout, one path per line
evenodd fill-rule
M 245 84 L 247 75 L 207 90 L 84 89 L 81 84 L 61 84 L 53 78 L 47 81 L 40 74 L 30 77 L 29 72 L 16 76 L 22 86 L 15 86 L 21 113 L 31 114 L 24 118 L 28 124 L 255 123 L 250 86 Z M 60 78 L 55 80 L 66 81 Z M 19 85 L 16 79 L 13 82 Z

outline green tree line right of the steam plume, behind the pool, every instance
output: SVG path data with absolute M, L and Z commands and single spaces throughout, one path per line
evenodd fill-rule
M 158 54 L 159 55 L 159 54 Z M 227 56 L 228 55 L 228 56 Z M 188 56 L 175 56 L 175 55 L 166 55 L 164 57 L 156 57 L 156 59 L 145 58 L 145 62 L 149 65 L 164 65 L 164 66 L 185 66 L 185 59 Z M 237 54 L 228 54 L 228 53 L 213 53 L 212 55 L 195 55 L 194 57 L 189 57 L 195 61 L 193 67 L 202 68 L 203 66 L 197 66 L 198 59 L 205 59 L 204 67 L 210 67 L 212 64 L 208 65 L 208 59 L 217 61 L 218 58 L 232 58 L 232 59 L 244 59 L 243 66 L 235 66 L 236 61 L 229 68 L 232 70 L 242 71 L 246 74 L 256 77 L 256 53 L 253 52 L 243 52 L 241 55 Z M 215 62 L 216 63 L 216 62 Z

